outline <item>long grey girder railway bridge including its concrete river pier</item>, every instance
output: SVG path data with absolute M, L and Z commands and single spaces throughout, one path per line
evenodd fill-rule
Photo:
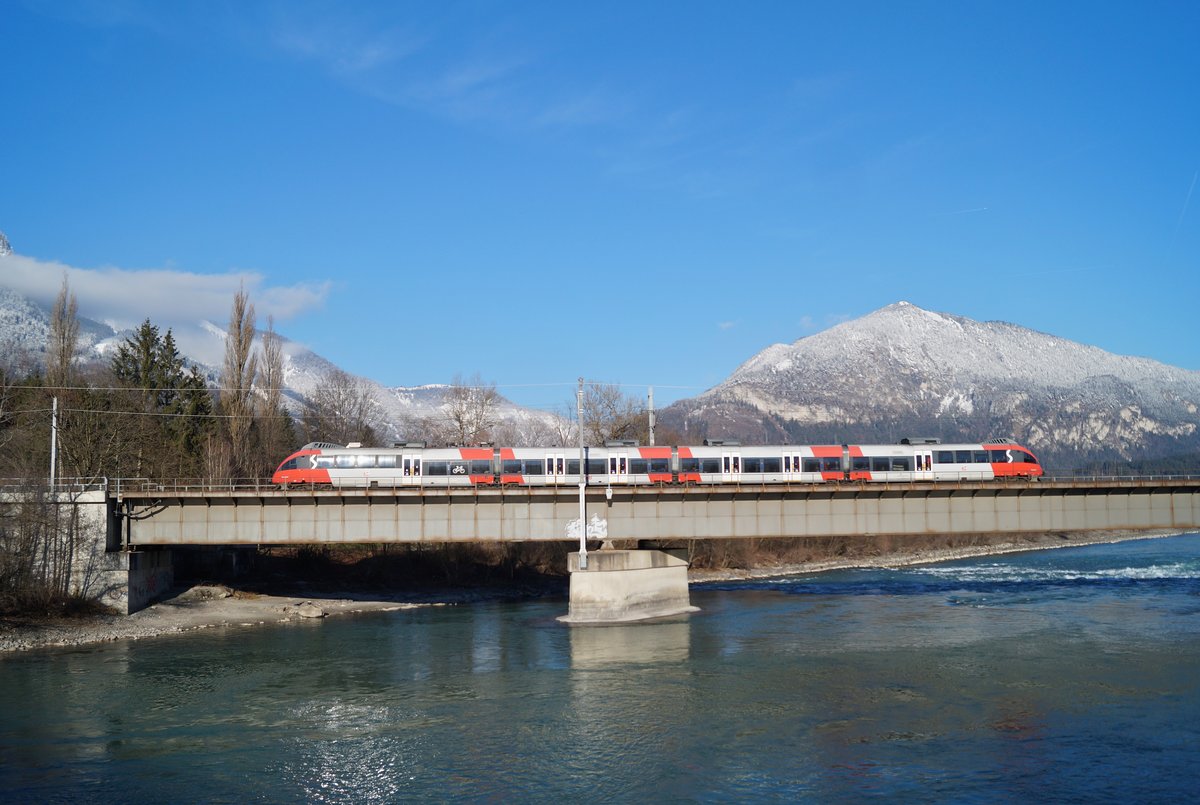
M 580 540 L 578 487 L 278 489 L 122 482 L 110 487 L 107 505 L 109 551 L 134 555 L 197 545 L 575 540 L 581 551 L 569 560 L 566 619 L 610 623 L 690 607 L 686 558 L 656 549 L 594 549 L 606 540 L 650 546 L 709 539 L 1193 529 L 1200 528 L 1200 477 L 600 485 L 586 488 L 586 541 Z M 161 555 L 156 572 L 169 572 Z

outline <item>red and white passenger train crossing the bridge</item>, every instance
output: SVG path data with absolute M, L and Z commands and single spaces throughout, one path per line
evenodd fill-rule
M 586 482 L 671 483 L 836 483 L 839 481 L 990 481 L 1037 479 L 1033 452 L 1010 439 L 940 444 L 742 445 L 647 447 L 608 443 L 584 447 Z M 577 486 L 577 447 L 391 447 L 314 441 L 288 456 L 271 479 L 281 486 Z

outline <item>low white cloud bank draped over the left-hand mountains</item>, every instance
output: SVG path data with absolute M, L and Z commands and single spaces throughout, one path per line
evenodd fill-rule
M 0 258 L 0 283 L 43 305 L 52 305 L 64 276 L 79 300 L 79 314 L 116 329 L 144 319 L 174 326 L 206 320 L 223 324 L 239 288 L 245 288 L 265 322 L 287 322 L 319 307 L 330 283 L 271 286 L 254 271 L 205 275 L 173 269 L 79 269 L 20 254 Z

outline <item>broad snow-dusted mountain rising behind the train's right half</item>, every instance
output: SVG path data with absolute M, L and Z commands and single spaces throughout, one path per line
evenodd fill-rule
M 1200 450 L 1200 372 L 896 302 L 774 344 L 660 421 L 696 437 L 1013 437 L 1068 465 Z

